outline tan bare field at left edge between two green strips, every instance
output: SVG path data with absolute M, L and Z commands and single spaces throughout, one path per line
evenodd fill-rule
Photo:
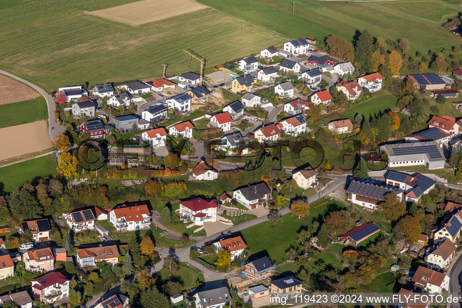
M 53 146 L 46 120 L 0 128 L 0 136 L 0 161 Z

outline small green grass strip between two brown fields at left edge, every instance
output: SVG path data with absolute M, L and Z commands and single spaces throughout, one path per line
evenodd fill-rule
M 18 115 L 20 113 L 20 116 Z M 45 98 L 0 105 L 0 128 L 48 119 Z

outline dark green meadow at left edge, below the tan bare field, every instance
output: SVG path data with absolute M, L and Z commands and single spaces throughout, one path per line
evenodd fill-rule
M 55 157 L 46 155 L 2 167 L 0 168 L 0 192 L 1 183 L 5 185 L 4 190 L 6 192 L 11 192 L 25 182 L 32 181 L 37 176 L 56 175 L 56 166 Z

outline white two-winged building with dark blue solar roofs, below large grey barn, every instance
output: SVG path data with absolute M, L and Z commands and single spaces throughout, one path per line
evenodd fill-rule
M 388 170 L 385 173 L 388 185 L 404 189 L 405 200 L 419 201 L 420 197 L 429 193 L 436 185 L 436 181 L 417 172 L 409 175 L 405 172 Z

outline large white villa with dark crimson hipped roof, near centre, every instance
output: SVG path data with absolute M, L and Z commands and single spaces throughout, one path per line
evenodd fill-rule
M 180 201 L 180 217 L 190 219 L 196 225 L 204 225 L 205 222 L 217 221 L 218 204 L 211 200 L 195 197 Z

